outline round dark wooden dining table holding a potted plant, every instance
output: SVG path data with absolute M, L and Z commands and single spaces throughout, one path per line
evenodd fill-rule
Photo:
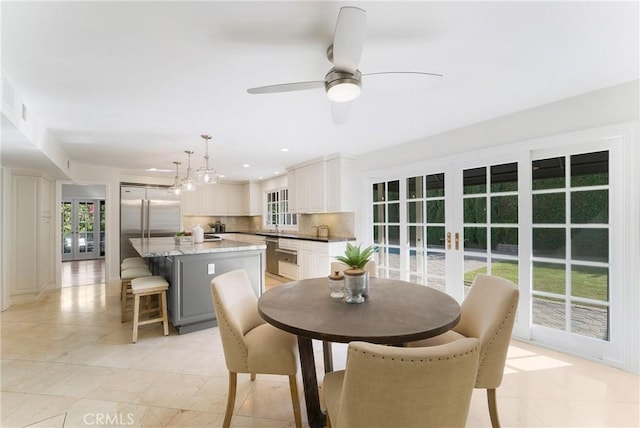
M 460 320 L 460 305 L 454 298 L 411 282 L 370 278 L 366 300 L 358 304 L 331 298 L 329 292 L 327 278 L 312 278 L 274 287 L 258 300 L 265 321 L 298 337 L 311 428 L 326 423 L 320 409 L 313 339 L 323 341 L 325 371 L 331 371 L 330 342 L 402 346 L 444 333 Z

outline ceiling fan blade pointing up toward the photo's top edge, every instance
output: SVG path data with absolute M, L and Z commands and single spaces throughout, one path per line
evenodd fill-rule
M 358 69 L 364 47 L 367 13 L 359 7 L 340 9 L 333 34 L 333 66 L 336 70 L 353 74 Z

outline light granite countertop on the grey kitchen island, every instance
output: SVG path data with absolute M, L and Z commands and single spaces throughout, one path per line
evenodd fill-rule
M 133 248 L 142 257 L 184 256 L 189 254 L 228 253 L 232 251 L 264 250 L 264 244 L 250 244 L 247 242 L 223 239 L 218 242 L 203 242 L 201 244 L 176 244 L 173 237 L 169 238 L 131 238 Z

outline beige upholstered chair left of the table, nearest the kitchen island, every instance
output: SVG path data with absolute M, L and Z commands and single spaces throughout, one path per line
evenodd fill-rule
M 211 297 L 229 370 L 229 395 L 222 426 L 226 428 L 231 423 L 238 373 L 249 373 L 251 380 L 260 373 L 289 376 L 295 424 L 301 427 L 296 337 L 260 317 L 257 297 L 242 269 L 213 278 Z

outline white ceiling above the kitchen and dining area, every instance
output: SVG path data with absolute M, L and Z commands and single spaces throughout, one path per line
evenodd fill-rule
M 638 2 L 349 4 L 367 11 L 363 73 L 444 78 L 364 78 L 341 126 L 322 89 L 247 94 L 322 80 L 339 2 L 3 1 L 2 72 L 75 162 L 142 173 L 174 160 L 184 168 L 183 151 L 195 150 L 196 168 L 208 133 L 214 166 L 231 180 L 639 76 Z M 12 147 L 3 145 L 5 161 Z

